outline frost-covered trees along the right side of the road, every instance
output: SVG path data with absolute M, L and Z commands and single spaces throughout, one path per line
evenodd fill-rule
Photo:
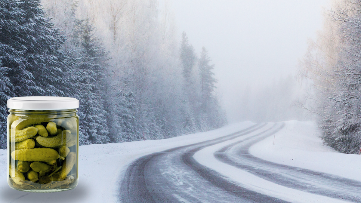
M 301 75 L 310 79 L 304 108 L 318 115 L 322 138 L 343 153 L 361 145 L 361 1 L 338 0 L 325 15 L 325 26 L 311 42 Z

